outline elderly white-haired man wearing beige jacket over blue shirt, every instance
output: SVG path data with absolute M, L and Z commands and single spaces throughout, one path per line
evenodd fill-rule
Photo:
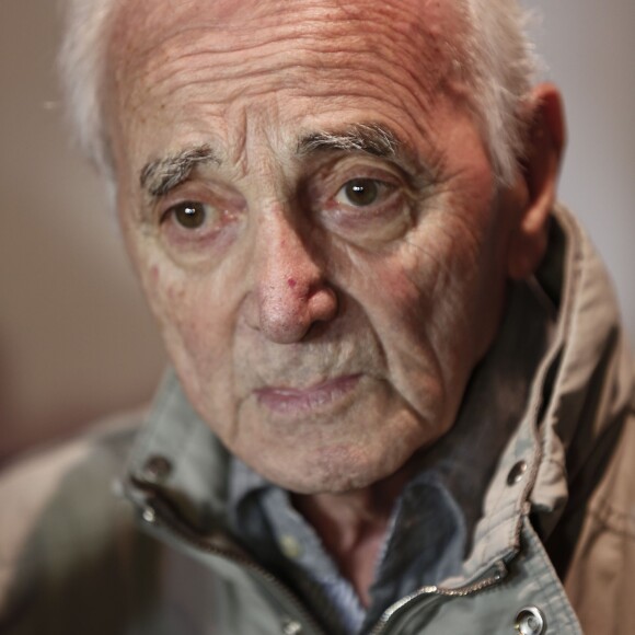
M 3 633 L 635 626 L 631 363 L 522 18 L 78 3 L 80 135 L 174 371 L 125 467 L 127 426 L 5 477 Z

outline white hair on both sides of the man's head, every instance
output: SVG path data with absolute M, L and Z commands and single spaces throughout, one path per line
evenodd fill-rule
M 104 117 L 104 79 L 109 28 L 125 0 L 67 0 L 60 55 L 67 106 L 80 148 L 112 186 L 114 160 Z M 510 183 L 522 157 L 528 122 L 523 115 L 535 72 L 526 34 L 527 14 L 518 0 L 454 0 L 466 19 L 460 64 L 472 85 L 472 108 L 495 173 Z

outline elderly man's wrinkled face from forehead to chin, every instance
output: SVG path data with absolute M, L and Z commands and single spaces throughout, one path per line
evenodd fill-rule
M 120 220 L 195 408 L 302 493 L 451 426 L 497 328 L 513 197 L 450 2 L 134 0 L 109 108 Z

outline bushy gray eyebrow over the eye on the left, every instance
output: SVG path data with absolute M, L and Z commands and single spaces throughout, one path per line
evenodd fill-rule
M 143 165 L 139 183 L 151 196 L 163 196 L 186 181 L 192 171 L 201 163 L 220 164 L 218 154 L 208 145 L 186 148 L 175 154 L 150 161 Z

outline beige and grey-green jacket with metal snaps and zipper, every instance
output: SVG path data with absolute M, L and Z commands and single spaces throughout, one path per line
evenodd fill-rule
M 404 598 L 374 633 L 635 630 L 632 363 L 602 265 L 575 220 L 554 213 L 540 280 L 559 308 L 556 333 L 473 549 L 460 576 Z M 227 452 L 174 377 L 137 434 L 140 418 L 0 478 L 0 633 L 322 633 L 228 535 Z

